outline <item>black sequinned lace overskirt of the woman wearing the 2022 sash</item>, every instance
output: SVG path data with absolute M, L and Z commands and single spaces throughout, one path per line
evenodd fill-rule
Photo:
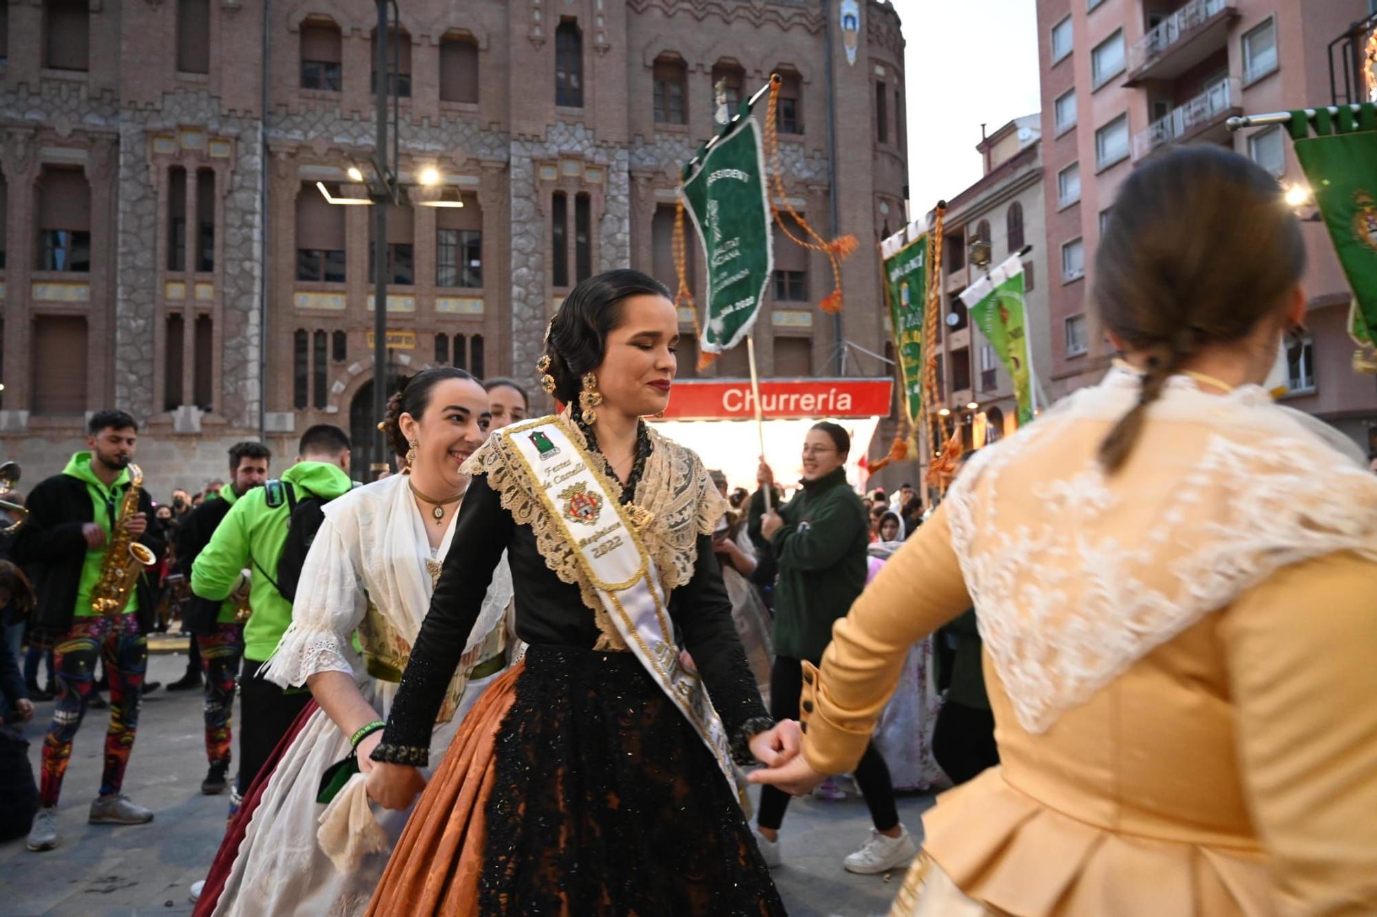
M 496 759 L 482 913 L 786 913 L 716 760 L 632 654 L 530 647 Z

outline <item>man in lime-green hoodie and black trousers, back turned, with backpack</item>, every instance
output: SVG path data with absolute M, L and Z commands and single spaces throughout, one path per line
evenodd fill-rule
M 230 794 L 230 812 L 238 807 L 259 768 L 292 726 L 311 695 L 304 688 L 280 688 L 257 677 L 292 624 L 292 603 L 277 588 L 277 560 L 286 541 L 292 503 L 317 497 L 333 500 L 348 493 L 350 441 L 343 430 L 317 424 L 302 434 L 296 464 L 282 472 L 282 485 L 293 500 L 270 496 L 275 487 L 255 487 L 235 500 L 191 566 L 191 592 L 219 602 L 227 599 L 245 576 L 249 607 L 244 628 L 244 672 L 240 679 L 240 774 Z

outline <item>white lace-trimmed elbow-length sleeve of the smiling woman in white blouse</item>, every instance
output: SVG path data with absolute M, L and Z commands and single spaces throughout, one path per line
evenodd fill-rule
M 318 672 L 359 671 L 351 643 L 368 599 L 351 548 L 336 523 L 326 518 L 302 566 L 292 604 L 292 625 L 277 643 L 263 677 L 282 687 L 306 684 Z

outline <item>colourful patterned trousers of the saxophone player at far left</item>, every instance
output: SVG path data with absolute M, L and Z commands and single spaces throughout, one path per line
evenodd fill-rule
M 56 805 L 62 793 L 62 775 L 72 759 L 72 739 L 85 716 L 87 698 L 95 690 L 95 664 L 101 657 L 105 657 L 105 671 L 110 676 L 110 728 L 105 734 L 101 794 L 118 793 L 124 783 L 124 768 L 139 728 L 139 695 L 149 662 L 149 643 L 139 633 L 134 614 L 77 618 L 58 640 L 52 658 L 58 699 L 52 726 L 43 739 L 43 786 L 39 793 L 45 807 Z

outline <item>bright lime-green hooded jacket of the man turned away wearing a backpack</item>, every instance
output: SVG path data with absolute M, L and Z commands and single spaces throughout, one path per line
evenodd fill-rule
M 348 493 L 354 482 L 339 465 L 299 461 L 282 472 L 296 498 L 307 494 L 333 500 Z M 191 591 L 212 600 L 229 598 L 240 571 L 252 570 L 249 604 L 253 614 L 244 628 L 244 658 L 264 662 L 292 624 L 292 603 L 277 591 L 277 556 L 286 541 L 291 511 L 284 501 L 267 505 L 267 492 L 255 487 L 234 501 L 216 527 L 211 542 L 191 565 Z M 264 576 L 266 571 L 266 576 Z

